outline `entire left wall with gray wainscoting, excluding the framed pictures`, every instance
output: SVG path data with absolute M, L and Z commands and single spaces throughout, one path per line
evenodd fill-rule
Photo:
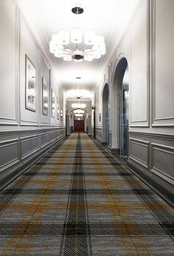
M 0 32 L 0 186 L 3 186 L 24 170 L 21 166 L 29 166 L 65 136 L 65 118 L 60 121 L 57 115 L 51 116 L 50 89 L 61 98 L 63 115 L 65 101 L 49 59 L 13 0 L 0 1 Z M 25 107 L 26 55 L 36 70 L 35 112 Z M 49 87 L 48 115 L 42 112 L 43 77 Z

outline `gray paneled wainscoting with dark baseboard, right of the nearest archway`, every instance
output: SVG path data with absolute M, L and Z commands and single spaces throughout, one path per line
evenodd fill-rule
M 128 167 L 161 194 L 174 198 L 174 136 L 130 132 Z

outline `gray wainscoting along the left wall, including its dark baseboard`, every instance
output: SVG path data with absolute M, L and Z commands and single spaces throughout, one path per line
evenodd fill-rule
M 24 172 L 65 136 L 65 127 L 1 132 L 0 187 Z

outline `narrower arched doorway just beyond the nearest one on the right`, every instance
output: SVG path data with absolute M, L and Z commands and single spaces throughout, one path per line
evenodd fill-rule
M 102 143 L 108 145 L 109 133 L 109 90 L 105 84 L 102 91 Z

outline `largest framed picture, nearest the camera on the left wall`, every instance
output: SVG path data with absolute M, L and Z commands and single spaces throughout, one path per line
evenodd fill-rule
M 35 66 L 25 55 L 25 108 L 35 112 Z

